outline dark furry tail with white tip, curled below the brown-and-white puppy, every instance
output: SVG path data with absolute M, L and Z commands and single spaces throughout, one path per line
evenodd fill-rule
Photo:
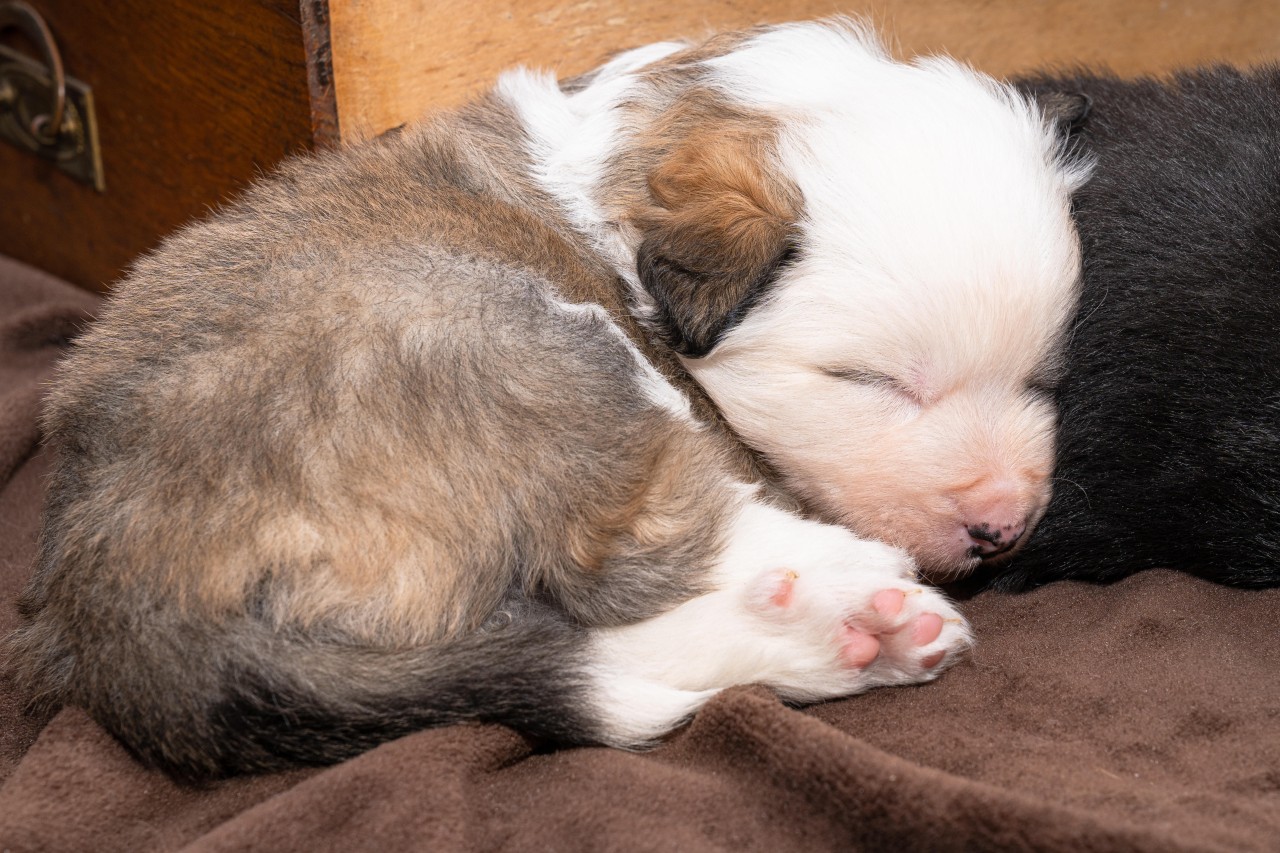
M 626 719 L 617 697 L 632 685 L 602 679 L 589 634 L 538 605 L 425 648 L 317 640 L 247 620 L 216 634 L 164 621 L 51 660 L 58 644 L 37 642 L 49 628 L 37 619 L 18 646 L 45 652 L 37 666 L 50 699 L 86 707 L 143 762 L 184 779 L 335 763 L 461 721 L 567 744 L 639 745 L 704 699 L 664 697 L 653 725 L 620 727 L 611 717 Z M 49 684 L 52 674 L 60 684 Z

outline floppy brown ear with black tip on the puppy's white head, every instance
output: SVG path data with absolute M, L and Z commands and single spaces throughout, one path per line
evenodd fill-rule
M 768 137 L 692 133 L 649 177 L 636 266 L 681 355 L 710 352 L 795 254 L 799 192 L 769 173 Z

